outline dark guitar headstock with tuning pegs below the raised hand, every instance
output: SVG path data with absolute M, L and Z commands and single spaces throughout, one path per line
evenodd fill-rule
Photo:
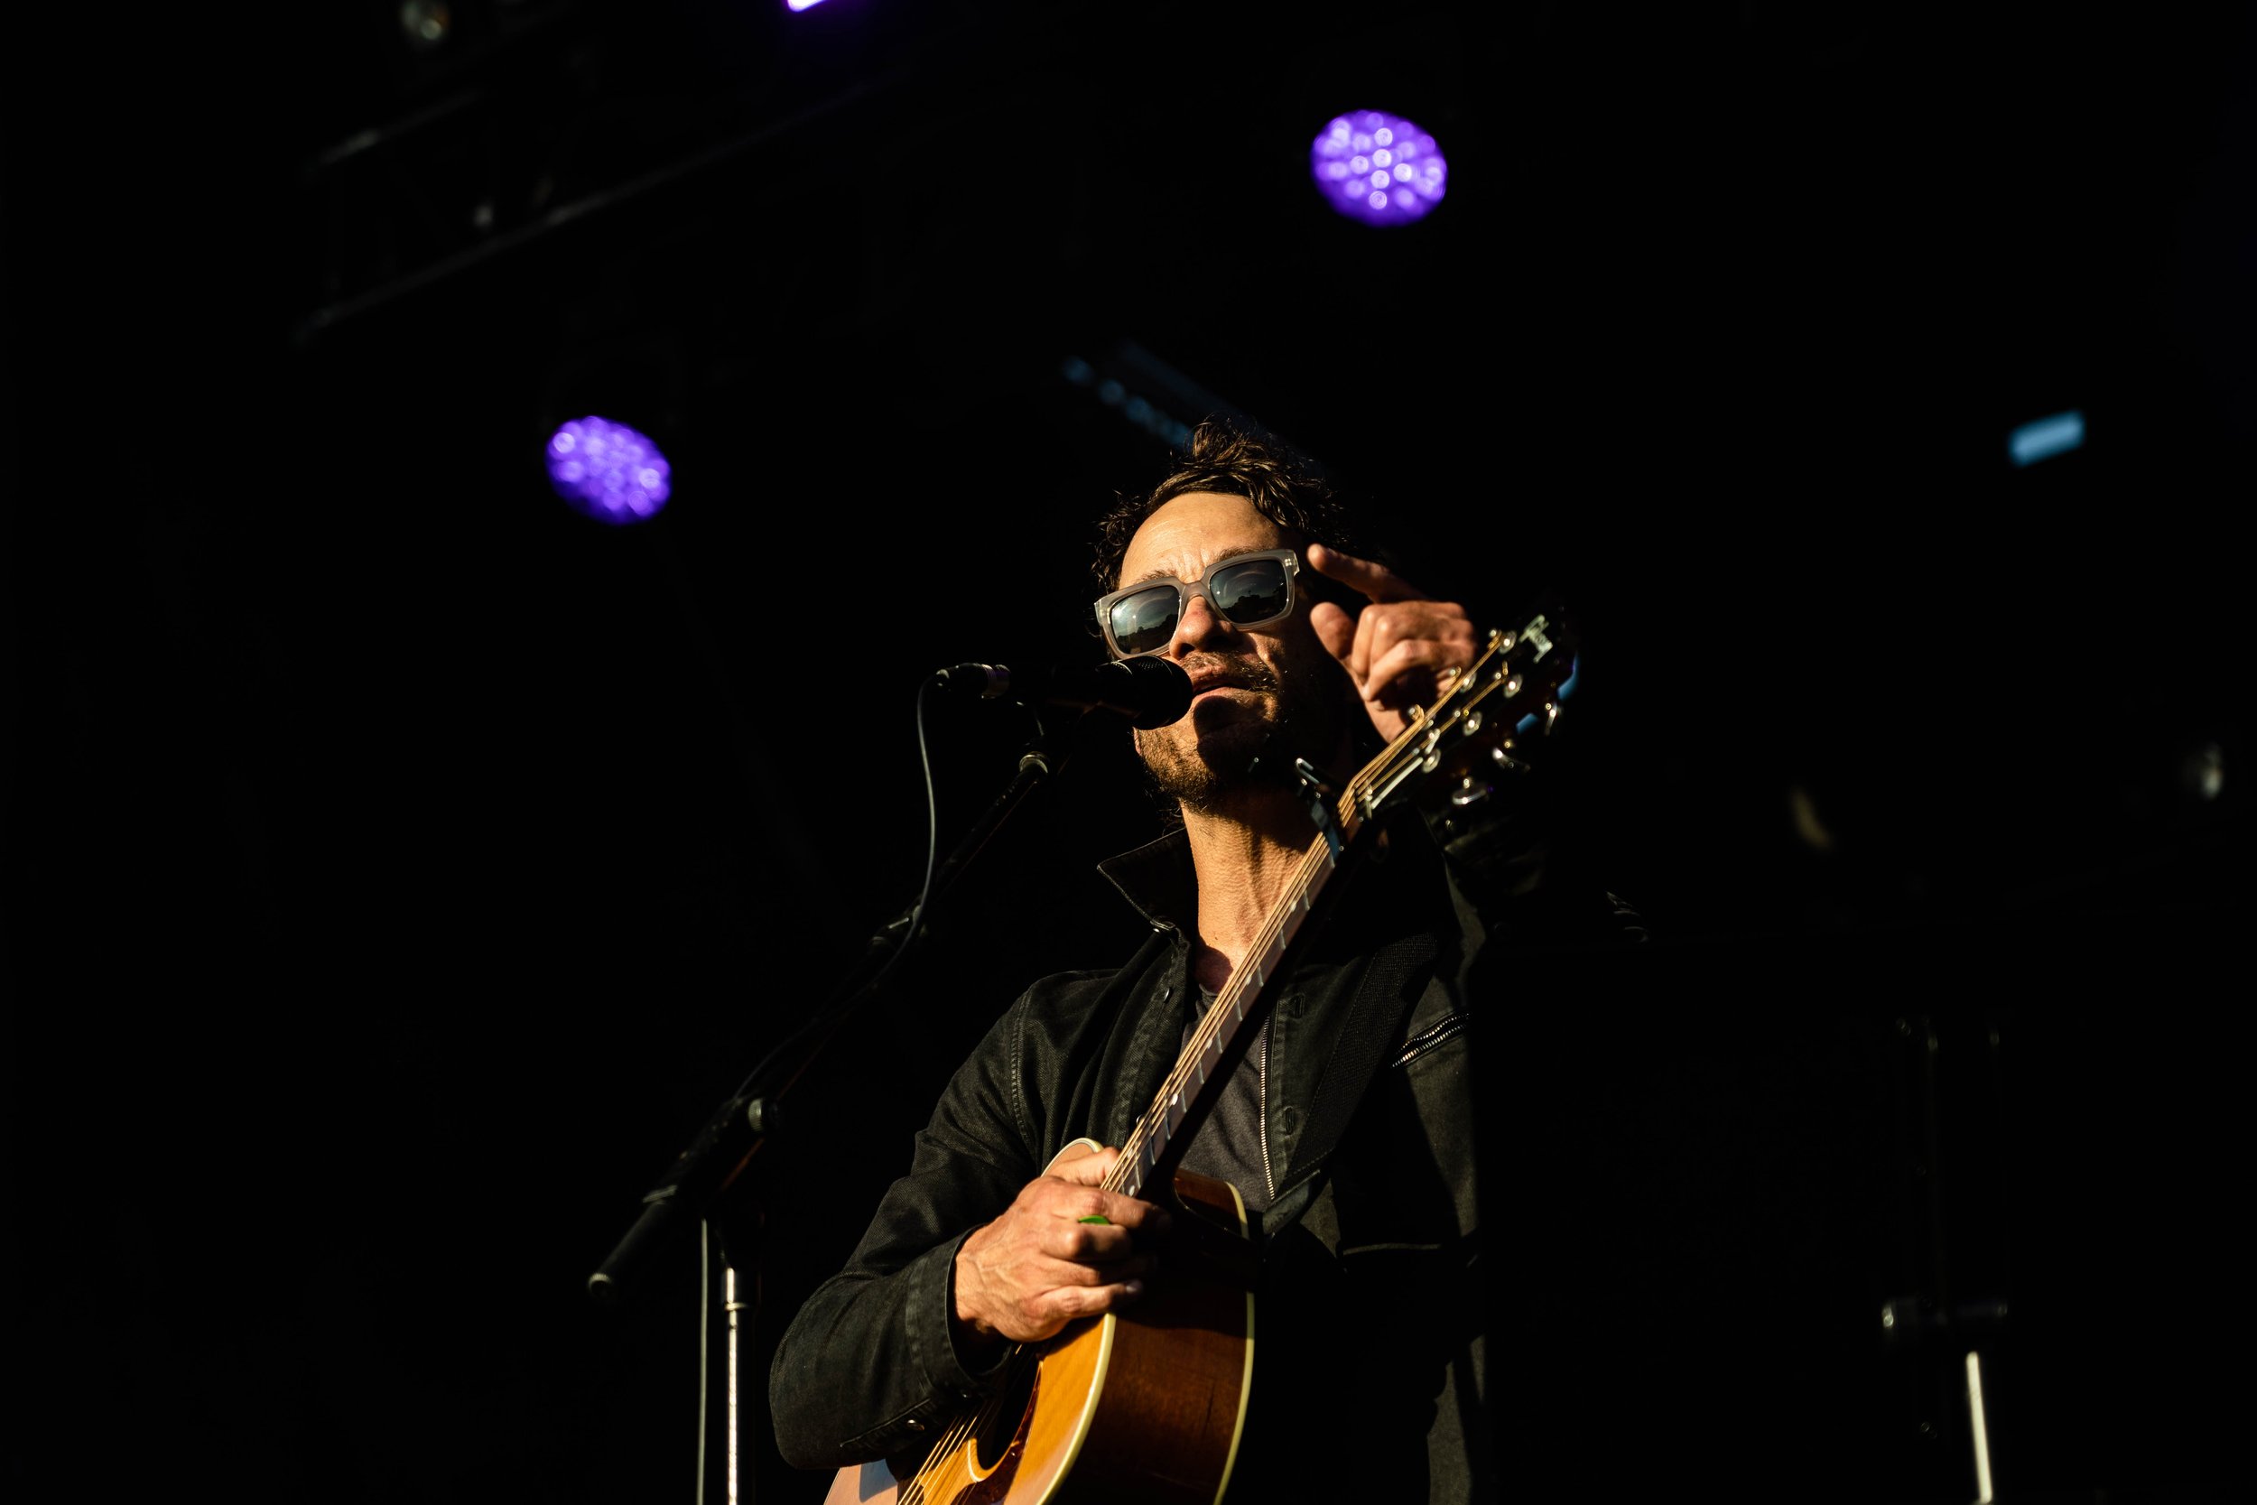
M 1517 749 L 1551 736 L 1573 675 L 1575 634 L 1557 602 L 1490 632 L 1474 663 L 1413 711 L 1404 733 L 1356 776 L 1350 799 L 1363 815 L 1444 792 L 1451 806 L 1481 803 L 1499 778 L 1528 767 Z

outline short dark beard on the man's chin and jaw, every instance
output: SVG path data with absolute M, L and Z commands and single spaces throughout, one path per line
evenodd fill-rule
M 1257 754 L 1268 751 L 1280 767 L 1291 767 L 1293 756 L 1329 765 L 1343 742 L 1347 711 L 1361 713 L 1329 659 L 1271 666 L 1255 654 L 1194 654 L 1185 668 L 1221 670 L 1230 684 L 1266 695 L 1257 704 L 1192 706 L 1169 727 L 1135 733 L 1153 790 L 1196 815 L 1214 815 L 1244 790 L 1268 785 L 1268 776 L 1253 772 Z

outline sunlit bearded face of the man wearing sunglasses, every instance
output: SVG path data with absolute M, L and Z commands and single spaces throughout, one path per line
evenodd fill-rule
M 1291 544 L 1244 496 L 1185 492 L 1138 528 L 1117 584 L 1198 582 L 1217 560 Z M 1169 727 L 1138 731 L 1135 747 L 1187 810 L 1212 810 L 1273 727 L 1318 760 L 1334 760 L 1345 745 L 1345 679 L 1309 630 L 1305 591 L 1291 616 L 1255 630 L 1223 625 L 1205 596 L 1192 596 L 1162 654 L 1192 675 L 1192 709 Z

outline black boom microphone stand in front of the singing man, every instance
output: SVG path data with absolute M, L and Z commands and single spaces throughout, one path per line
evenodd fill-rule
M 948 860 L 932 871 L 932 882 L 907 909 L 871 934 L 862 959 L 842 993 L 819 1009 L 806 1024 L 776 1045 L 729 1099 L 713 1110 L 713 1117 L 691 1144 L 675 1155 L 659 1185 L 643 1196 L 643 1209 L 612 1252 L 589 1275 L 589 1295 L 605 1306 L 616 1306 L 627 1295 L 643 1266 L 675 1234 L 677 1227 L 700 1223 L 700 1239 L 711 1236 L 720 1246 L 718 1230 L 704 1225 L 706 1214 L 722 1200 L 752 1164 L 752 1158 L 774 1133 L 779 1108 L 792 1085 L 822 1056 L 824 1047 L 858 1018 L 871 1002 L 882 997 L 882 984 L 892 968 L 907 957 L 912 945 L 928 934 L 925 921 L 955 889 L 966 869 L 986 851 L 1004 821 L 1027 801 L 1029 794 L 1054 772 L 1056 738 L 1043 727 L 1040 715 L 1029 706 L 1034 736 L 1018 756 L 1018 767 L 1002 792 L 980 812 L 980 819 L 964 833 Z M 727 1498 L 738 1500 L 738 1347 L 740 1334 L 749 1331 L 758 1304 L 761 1279 L 743 1279 L 720 1250 L 720 1282 L 727 1309 Z M 706 1300 L 711 1300 L 711 1275 L 706 1275 Z M 747 1300 L 752 1293 L 752 1300 Z M 700 1379 L 700 1394 L 704 1381 Z M 700 1422 L 700 1437 L 702 1437 Z M 704 1444 L 700 1442 L 700 1455 Z

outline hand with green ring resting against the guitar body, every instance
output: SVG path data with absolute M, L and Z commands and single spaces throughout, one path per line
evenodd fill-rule
M 973 1347 L 1050 1338 L 1074 1318 L 1144 1291 L 1156 1257 L 1135 1234 L 1158 1234 L 1167 1212 L 1099 1182 L 1117 1148 L 1063 1151 L 957 1250 L 955 1318 Z

